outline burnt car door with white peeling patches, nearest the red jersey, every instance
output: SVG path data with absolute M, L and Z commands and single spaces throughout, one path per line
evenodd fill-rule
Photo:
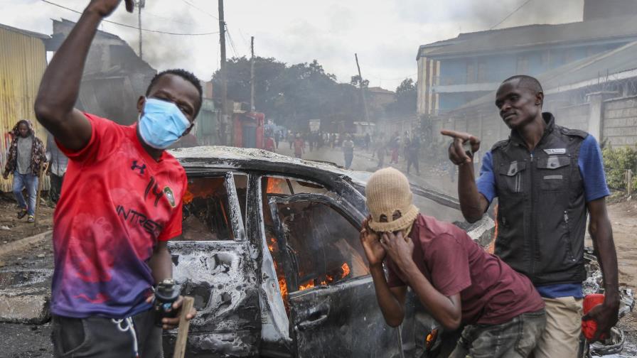
M 183 234 L 168 243 L 173 277 L 198 313 L 188 334 L 187 357 L 248 357 L 260 336 L 257 273 L 251 264 L 235 180 L 225 175 L 188 175 Z M 164 337 L 171 357 L 176 331 Z

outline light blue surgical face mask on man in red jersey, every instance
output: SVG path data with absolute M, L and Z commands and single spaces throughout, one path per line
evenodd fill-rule
M 139 135 L 146 144 L 166 149 L 175 143 L 191 125 L 186 116 L 172 102 L 149 98 L 139 119 Z

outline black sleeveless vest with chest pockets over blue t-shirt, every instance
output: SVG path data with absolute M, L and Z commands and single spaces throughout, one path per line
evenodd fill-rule
M 516 131 L 491 148 L 498 196 L 496 255 L 535 286 L 581 283 L 587 208 L 579 146 L 588 134 L 555 125 L 530 153 Z

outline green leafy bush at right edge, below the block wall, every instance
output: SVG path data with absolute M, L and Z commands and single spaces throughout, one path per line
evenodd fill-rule
M 604 156 L 606 182 L 610 188 L 626 189 L 626 170 L 633 170 L 633 191 L 637 190 L 637 150 L 635 148 L 611 148 L 606 146 L 601 151 Z

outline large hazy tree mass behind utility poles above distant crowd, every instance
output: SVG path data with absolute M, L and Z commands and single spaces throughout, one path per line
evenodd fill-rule
M 250 102 L 250 59 L 228 60 L 228 99 Z M 220 72 L 213 75 L 220 94 Z M 309 119 L 326 124 L 360 119 L 360 94 L 350 84 L 336 82 L 318 61 L 287 65 L 274 58 L 255 58 L 255 108 L 267 118 L 294 130 L 305 130 Z M 336 130 L 331 129 L 331 130 Z

